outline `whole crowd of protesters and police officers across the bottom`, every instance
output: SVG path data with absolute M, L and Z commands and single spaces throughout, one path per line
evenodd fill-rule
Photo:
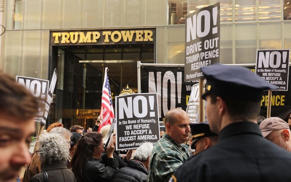
M 277 87 L 243 67 L 201 70 L 208 122 L 192 124 L 184 110 L 169 110 L 155 146 L 145 142 L 123 157 L 115 150 L 115 131 L 105 147 L 110 126 L 98 132 L 102 116 L 86 132 L 79 125 L 49 125 L 30 154 L 38 101 L 0 72 L 0 181 L 15 182 L 24 166 L 24 182 L 291 180 L 291 112 L 283 119 L 259 116 L 263 90 Z

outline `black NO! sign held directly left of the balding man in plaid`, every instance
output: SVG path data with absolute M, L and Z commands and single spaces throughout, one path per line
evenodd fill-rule
M 153 145 L 160 138 L 156 93 L 115 97 L 116 150 L 136 149 L 144 142 Z

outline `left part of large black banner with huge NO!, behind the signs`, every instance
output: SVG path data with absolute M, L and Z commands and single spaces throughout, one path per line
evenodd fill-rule
M 184 82 L 184 67 L 141 68 L 142 93 L 157 93 L 160 121 L 174 108 L 186 110 L 193 82 Z

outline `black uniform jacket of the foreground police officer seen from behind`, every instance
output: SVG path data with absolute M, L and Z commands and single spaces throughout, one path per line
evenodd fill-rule
M 291 181 L 291 153 L 263 138 L 251 122 L 232 123 L 219 143 L 187 160 L 172 181 Z M 170 180 L 170 181 L 171 181 Z

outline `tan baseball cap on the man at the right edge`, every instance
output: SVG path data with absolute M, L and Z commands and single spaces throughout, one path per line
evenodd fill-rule
M 269 117 L 262 121 L 260 129 L 263 137 L 269 135 L 273 130 L 289 129 L 289 124 L 278 117 Z

